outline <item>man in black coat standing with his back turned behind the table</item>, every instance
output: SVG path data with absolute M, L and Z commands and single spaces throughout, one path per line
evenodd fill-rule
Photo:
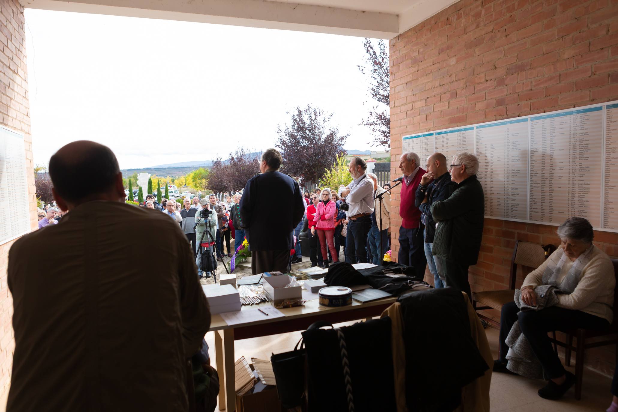
M 260 161 L 261 174 L 247 181 L 240 198 L 240 218 L 251 246 L 254 275 L 288 271 L 294 228 L 305 213 L 298 183 L 277 171 L 282 161 L 279 151 L 266 150 Z

